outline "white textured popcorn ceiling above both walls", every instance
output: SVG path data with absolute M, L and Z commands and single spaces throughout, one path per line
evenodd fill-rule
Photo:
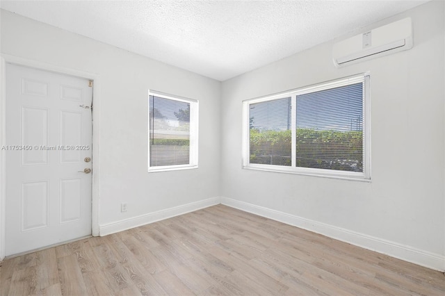
M 225 81 L 427 1 L 1 1 L 19 15 Z

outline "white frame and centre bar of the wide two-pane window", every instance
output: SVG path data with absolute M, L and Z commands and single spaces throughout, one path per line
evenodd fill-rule
M 349 179 L 357 181 L 371 181 L 371 108 L 369 96 L 369 72 L 353 76 L 326 81 L 315 85 L 309 85 L 302 88 L 288 90 L 277 94 L 271 94 L 264 97 L 247 99 L 243 101 L 243 133 L 242 133 L 242 168 L 248 170 L 262 170 L 268 172 L 283 172 L 291 174 L 302 174 L 307 176 L 321 176 L 335 179 Z M 310 167 L 296 166 L 296 97 L 301 94 L 329 90 L 341 86 L 363 83 L 363 172 L 348 172 L 340 170 L 327 170 Z M 250 105 L 291 97 L 291 166 L 282 165 L 263 165 L 250 163 Z

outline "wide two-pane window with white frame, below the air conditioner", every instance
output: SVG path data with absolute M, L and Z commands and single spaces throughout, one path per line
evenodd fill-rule
M 368 75 L 243 102 L 243 167 L 370 179 Z

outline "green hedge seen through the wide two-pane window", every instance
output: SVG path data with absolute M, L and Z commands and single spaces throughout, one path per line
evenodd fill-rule
M 250 129 L 250 163 L 291 165 L 291 131 Z M 296 166 L 363 172 L 362 131 L 297 129 Z

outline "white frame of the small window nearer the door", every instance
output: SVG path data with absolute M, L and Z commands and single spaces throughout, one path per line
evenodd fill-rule
M 160 97 L 163 99 L 170 99 L 173 101 L 181 101 L 190 104 L 190 146 L 189 146 L 189 163 L 186 165 L 158 165 L 150 166 L 150 128 L 151 122 L 149 117 L 150 112 L 150 96 Z M 188 99 L 179 97 L 173 94 L 166 94 L 156 90 L 148 90 L 148 112 L 147 112 L 147 170 L 148 172 L 165 172 L 173 170 L 191 170 L 198 167 L 198 128 L 199 128 L 199 101 L 195 99 Z

